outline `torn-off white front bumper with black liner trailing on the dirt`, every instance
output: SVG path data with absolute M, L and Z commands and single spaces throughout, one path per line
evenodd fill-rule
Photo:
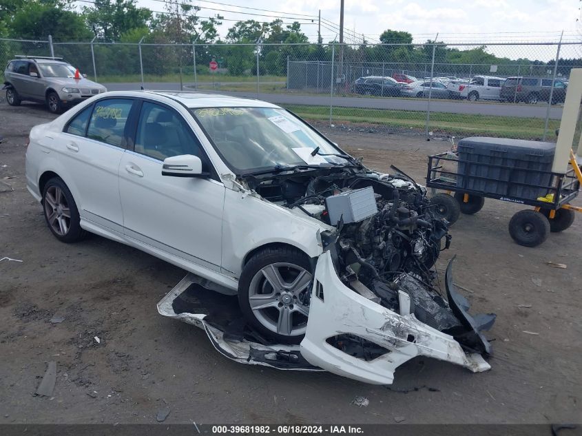
M 417 320 L 410 313 L 410 297 L 402 291 L 400 313 L 395 313 L 346 287 L 335 272 L 329 251 L 318 258 L 309 320 L 300 345 L 269 344 L 245 336 L 244 322 L 236 311 L 236 297 L 208 291 L 202 287 L 203 281 L 192 274 L 158 303 L 158 312 L 200 327 L 217 351 L 245 364 L 326 370 L 371 384 L 391 384 L 397 366 L 418 355 L 459 364 L 474 373 L 487 371 L 490 365 L 480 353 L 490 354 L 490 344 L 481 331 L 492 326 L 495 315 L 468 314 L 467 300 L 455 290 L 451 263 L 446 271 L 446 290 L 450 310 L 461 325 L 452 333 L 455 337 Z M 224 301 L 217 305 L 209 298 Z M 216 309 L 220 307 L 222 311 Z M 372 344 L 375 354 L 350 353 L 337 346 L 337 338 Z

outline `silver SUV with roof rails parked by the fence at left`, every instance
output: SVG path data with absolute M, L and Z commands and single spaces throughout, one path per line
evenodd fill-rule
M 4 87 L 6 101 L 18 106 L 21 101 L 46 103 L 48 110 L 59 114 L 86 98 L 106 92 L 103 85 L 85 79 L 62 58 L 28 58 L 17 56 L 6 66 Z

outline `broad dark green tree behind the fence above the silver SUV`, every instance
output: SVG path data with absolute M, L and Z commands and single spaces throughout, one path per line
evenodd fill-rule
M 26 1 L 12 16 L 8 28 L 13 35 L 46 39 L 50 34 L 56 41 L 90 39 L 91 31 L 81 14 L 64 8 L 57 1 Z

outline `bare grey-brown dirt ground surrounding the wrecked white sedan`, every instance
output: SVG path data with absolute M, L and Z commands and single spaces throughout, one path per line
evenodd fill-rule
M 218 354 L 203 331 L 158 315 L 156 303 L 185 271 L 97 236 L 75 245 L 52 237 L 24 175 L 25 137 L 50 119 L 38 105 L 0 105 L 0 181 L 14 189 L 0 184 L 0 258 L 23 261 L 0 262 L 0 424 L 154 423 L 165 407 L 167 423 L 582 422 L 580 218 L 534 249 L 508 235 L 515 205 L 489 200 L 451 228 L 437 266 L 442 273 L 457 255 L 455 281 L 471 290 L 473 311 L 497 313 L 491 371 L 416 358 L 387 388 L 245 366 Z M 426 155 L 448 148 L 324 130 L 369 167 L 393 163 L 421 182 Z M 51 324 L 53 316 L 65 320 Z M 35 397 L 52 360 L 54 396 Z M 351 404 L 357 395 L 369 406 Z

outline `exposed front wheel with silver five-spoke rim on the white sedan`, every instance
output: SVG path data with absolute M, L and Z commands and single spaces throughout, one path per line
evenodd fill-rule
M 238 302 L 247 322 L 282 344 L 299 344 L 309 315 L 309 258 L 292 247 L 267 247 L 245 264 Z

